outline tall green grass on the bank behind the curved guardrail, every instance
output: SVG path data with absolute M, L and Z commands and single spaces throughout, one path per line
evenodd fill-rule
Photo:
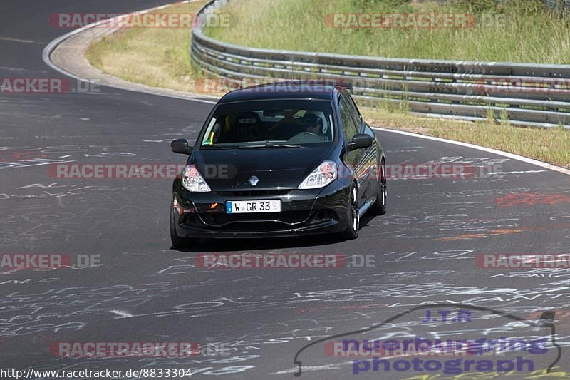
M 394 58 L 570 63 L 570 18 L 544 10 L 539 0 L 239 0 L 222 9 L 237 16 L 232 28 L 204 32 L 230 43 L 257 48 L 318 51 Z M 492 14 L 499 26 L 466 29 L 338 29 L 327 14 L 468 13 Z M 497 19 L 496 16 L 502 17 Z

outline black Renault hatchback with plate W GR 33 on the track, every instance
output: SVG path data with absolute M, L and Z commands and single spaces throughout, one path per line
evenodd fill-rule
M 201 237 L 358 236 L 386 210 L 384 151 L 342 86 L 280 82 L 227 93 L 172 185 L 174 247 Z

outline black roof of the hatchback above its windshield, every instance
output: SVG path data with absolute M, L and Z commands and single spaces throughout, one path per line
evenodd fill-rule
M 238 88 L 222 96 L 218 103 L 274 99 L 321 99 L 331 101 L 344 88 L 319 81 L 280 81 Z

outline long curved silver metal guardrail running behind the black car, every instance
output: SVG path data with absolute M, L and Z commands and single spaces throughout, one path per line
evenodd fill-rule
M 228 0 L 214 0 L 199 18 Z M 570 65 L 375 58 L 249 48 L 192 29 L 192 59 L 229 81 L 320 79 L 351 83 L 353 96 L 374 106 L 395 103 L 437 118 L 487 120 L 570 129 Z

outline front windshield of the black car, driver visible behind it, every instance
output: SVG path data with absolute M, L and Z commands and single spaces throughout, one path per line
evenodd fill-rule
M 330 101 L 242 101 L 219 105 L 202 148 L 304 147 L 334 140 Z

